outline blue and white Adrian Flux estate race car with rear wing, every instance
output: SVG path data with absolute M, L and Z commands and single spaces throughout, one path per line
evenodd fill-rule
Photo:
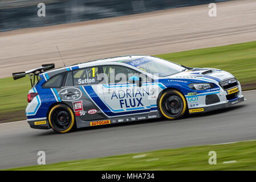
M 189 68 L 148 55 L 54 67 L 44 64 L 13 73 L 14 80 L 31 78 L 26 116 L 33 129 L 67 133 L 160 117 L 173 120 L 245 101 L 239 81 L 228 72 Z

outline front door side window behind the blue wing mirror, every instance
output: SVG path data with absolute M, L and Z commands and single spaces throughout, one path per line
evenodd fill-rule
M 110 84 L 127 83 L 129 77 L 140 76 L 141 74 L 131 68 L 116 65 L 103 67 L 103 73 L 105 75 L 106 82 Z

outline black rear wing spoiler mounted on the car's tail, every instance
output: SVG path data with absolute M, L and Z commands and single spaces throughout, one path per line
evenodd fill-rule
M 48 71 L 50 69 L 54 69 L 54 68 L 55 68 L 54 64 L 43 64 L 42 67 L 30 69 L 29 71 L 26 71 L 26 72 L 13 73 L 13 79 L 18 80 L 19 78 L 23 78 L 26 75 L 29 75 L 31 86 L 33 87 L 35 85 L 35 78 L 38 81 L 40 73 L 46 72 L 46 71 Z M 32 76 L 34 76 L 34 78 L 32 78 Z

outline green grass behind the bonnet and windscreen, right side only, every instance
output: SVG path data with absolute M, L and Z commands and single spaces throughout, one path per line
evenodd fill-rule
M 256 86 L 256 42 L 156 55 L 188 67 L 218 68 Z

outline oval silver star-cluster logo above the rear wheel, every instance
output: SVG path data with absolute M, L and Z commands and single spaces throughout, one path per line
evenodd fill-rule
M 62 97 L 62 101 L 76 101 L 82 97 L 82 92 L 78 88 L 65 88 L 58 94 Z

